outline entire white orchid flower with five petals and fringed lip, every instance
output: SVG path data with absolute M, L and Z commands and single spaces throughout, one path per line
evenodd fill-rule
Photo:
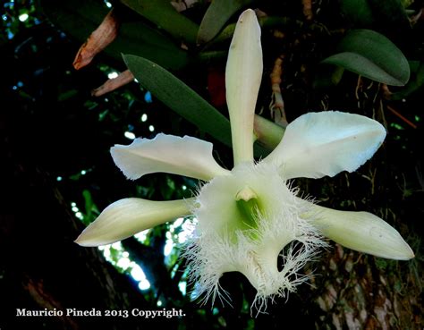
M 193 214 L 198 219 L 184 255 L 191 280 L 205 298 L 219 296 L 225 272 L 245 275 L 267 298 L 284 296 L 308 279 L 301 267 L 326 246 L 325 237 L 377 257 L 405 260 L 413 253 L 401 235 L 367 212 L 336 211 L 297 196 L 287 181 L 352 172 L 376 152 L 384 127 L 358 114 L 303 114 L 290 123 L 276 149 L 259 163 L 253 158 L 253 116 L 262 76 L 260 28 L 256 15 L 240 16 L 226 65 L 226 97 L 233 137 L 232 171 L 218 165 L 212 144 L 158 134 L 111 149 L 115 164 L 131 180 L 148 173 L 176 173 L 206 183 L 192 199 L 122 199 L 89 224 L 82 246 L 120 241 L 135 233 Z M 281 265 L 277 265 L 281 262 Z

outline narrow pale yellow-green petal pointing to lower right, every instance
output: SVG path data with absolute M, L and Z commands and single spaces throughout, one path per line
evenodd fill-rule
M 313 205 L 309 216 L 311 224 L 324 236 L 346 248 L 394 260 L 414 257 L 400 233 L 368 212 L 338 211 Z

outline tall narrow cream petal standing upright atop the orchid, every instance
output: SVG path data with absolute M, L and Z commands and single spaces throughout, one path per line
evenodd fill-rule
M 253 161 L 253 119 L 262 79 L 262 47 L 256 13 L 242 13 L 235 27 L 225 69 L 234 165 Z

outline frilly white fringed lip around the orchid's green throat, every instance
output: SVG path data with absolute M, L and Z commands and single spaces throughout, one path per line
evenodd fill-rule
M 254 196 L 260 201 L 250 227 L 236 207 L 243 187 L 249 187 L 246 199 Z M 285 296 L 308 280 L 301 268 L 326 242 L 301 217 L 307 210 L 296 192 L 287 187 L 276 166 L 267 164 L 238 165 L 231 175 L 217 177 L 199 191 L 199 208 L 193 210 L 199 224 L 184 252 L 198 295 L 226 300 L 219 277 L 238 271 L 257 289 L 253 305 L 261 311 L 268 298 Z

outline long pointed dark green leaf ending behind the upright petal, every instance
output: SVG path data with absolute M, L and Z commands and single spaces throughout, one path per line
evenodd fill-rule
M 123 60 L 140 84 L 177 114 L 206 131 L 216 140 L 231 146 L 230 122 L 215 107 L 200 97 L 182 80 L 164 68 L 134 55 L 123 55 Z

